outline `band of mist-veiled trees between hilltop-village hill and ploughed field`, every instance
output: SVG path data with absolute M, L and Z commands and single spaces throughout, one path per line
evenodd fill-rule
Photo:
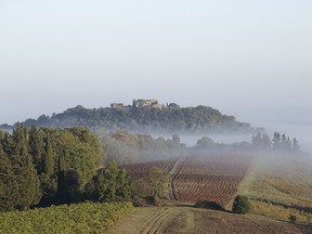
M 127 131 L 102 131 L 99 134 L 108 161 L 116 160 L 120 165 L 196 155 L 251 157 L 303 155 L 298 145 L 292 142 L 292 136 L 288 138 L 282 133 L 278 133 L 278 141 L 264 132 L 257 132 L 253 135 L 214 133 L 204 136 L 202 134 L 150 135 Z

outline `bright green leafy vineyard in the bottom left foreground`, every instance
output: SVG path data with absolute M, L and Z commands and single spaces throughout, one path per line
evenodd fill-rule
M 131 210 L 131 203 L 84 203 L 3 212 L 0 233 L 103 233 Z

